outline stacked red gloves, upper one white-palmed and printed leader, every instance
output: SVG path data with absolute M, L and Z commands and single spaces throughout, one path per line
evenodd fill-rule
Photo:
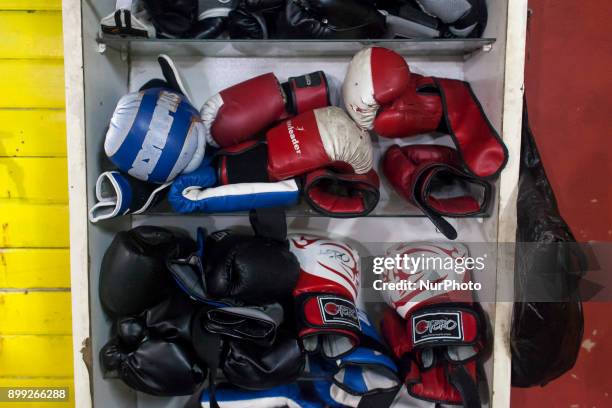
M 330 216 L 366 215 L 379 199 L 367 132 L 338 107 L 306 111 L 266 133 L 265 143 L 220 153 L 220 184 L 301 179 L 313 209 Z

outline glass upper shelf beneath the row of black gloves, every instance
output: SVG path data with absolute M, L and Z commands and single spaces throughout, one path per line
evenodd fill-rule
M 321 57 L 352 56 L 365 46 L 380 45 L 405 56 L 468 56 L 489 51 L 494 38 L 415 40 L 194 40 L 100 37 L 100 52 L 107 47 L 135 56 L 169 54 L 208 57 Z

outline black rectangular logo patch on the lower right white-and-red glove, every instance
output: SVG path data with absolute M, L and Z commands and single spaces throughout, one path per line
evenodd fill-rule
M 422 313 L 412 316 L 414 344 L 439 340 L 463 340 L 461 312 Z

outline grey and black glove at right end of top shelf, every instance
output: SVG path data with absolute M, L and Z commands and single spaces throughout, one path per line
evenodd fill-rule
M 485 0 L 415 0 L 421 9 L 443 23 L 442 37 L 477 38 L 487 25 Z

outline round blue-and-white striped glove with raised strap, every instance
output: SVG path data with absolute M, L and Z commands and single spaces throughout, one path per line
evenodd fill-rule
M 206 138 L 174 64 L 163 55 L 158 61 L 168 86 L 181 87 L 181 92 L 175 86 L 151 88 L 148 83 L 123 96 L 111 118 L 104 151 L 122 172 L 163 184 L 200 166 Z

